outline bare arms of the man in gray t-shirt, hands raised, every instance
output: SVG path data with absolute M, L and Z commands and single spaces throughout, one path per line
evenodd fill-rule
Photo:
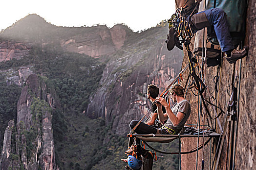
M 171 120 L 173 126 L 177 126 L 181 122 L 181 120 L 185 117 L 185 114 L 182 113 L 182 112 L 178 112 L 177 116 L 175 116 L 173 114 L 173 112 L 171 111 L 170 106 L 168 105 L 168 103 L 165 101 L 164 98 L 156 98 L 156 101 L 160 102 L 165 107 L 165 109 L 166 109 L 166 116 L 167 116 L 167 118 L 169 118 Z M 158 108 L 158 106 L 157 106 L 157 108 Z M 161 110 L 162 110 L 162 107 L 161 107 Z M 163 111 L 162 111 L 162 113 L 163 113 Z M 162 118 L 166 118 L 166 116 L 164 114 L 163 115 L 160 114 L 160 116 L 162 116 Z M 159 117 L 159 114 L 158 114 L 158 117 Z M 159 117 L 159 120 L 162 121 L 160 119 L 160 117 Z

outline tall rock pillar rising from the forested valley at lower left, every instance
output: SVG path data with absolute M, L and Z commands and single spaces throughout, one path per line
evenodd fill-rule
M 46 93 L 42 78 L 35 74 L 28 76 L 18 102 L 17 133 L 10 136 L 10 127 L 15 129 L 13 121 L 9 122 L 5 132 L 0 164 L 2 170 L 14 167 L 14 162 L 8 162 L 8 154 L 15 154 L 18 158 L 21 155 L 21 165 L 26 170 L 56 169 L 51 123 L 51 109 L 56 106 L 59 103 Z M 11 140 L 15 141 L 16 151 L 10 152 L 14 147 L 10 146 Z

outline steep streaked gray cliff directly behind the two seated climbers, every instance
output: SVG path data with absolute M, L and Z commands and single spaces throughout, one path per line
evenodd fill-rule
M 156 29 L 154 33 L 146 31 L 120 52 L 117 59 L 108 62 L 100 81 L 102 87 L 91 96 L 86 115 L 113 123 L 116 134 L 128 133 L 129 122 L 148 112 L 149 84 L 158 85 L 162 92 L 180 71 L 182 51 L 176 48 L 171 53 L 167 51 L 163 36 L 167 27 Z M 153 41 L 154 38 L 159 40 Z M 154 43 L 149 45 L 150 41 Z

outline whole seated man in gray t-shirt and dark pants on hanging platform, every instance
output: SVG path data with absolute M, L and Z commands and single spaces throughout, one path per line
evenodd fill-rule
M 164 98 L 157 97 L 155 99 L 157 105 L 157 114 L 160 121 L 166 121 L 164 126 L 155 128 L 146 123 L 141 122 L 134 130 L 137 134 L 161 134 L 174 135 L 179 134 L 190 116 L 190 103 L 184 98 L 184 88 L 179 84 L 172 85 L 170 89 L 171 99 L 176 102 L 172 108 Z M 165 107 L 166 113 L 163 113 L 162 106 Z M 133 129 L 138 120 L 130 122 L 130 128 Z

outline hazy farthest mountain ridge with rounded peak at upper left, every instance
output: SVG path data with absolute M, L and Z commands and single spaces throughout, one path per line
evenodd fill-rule
M 122 24 L 115 25 L 111 29 L 107 26 L 57 27 L 46 23 L 42 17 L 33 14 L 22 18 L 13 26 L 1 32 L 0 37 L 18 42 L 37 43 L 42 46 L 60 44 L 66 51 L 100 57 L 120 50 L 125 41 L 134 34 L 127 26 Z M 1 61 L 22 57 L 24 51 L 21 50 L 26 50 L 20 44 L 14 46 L 14 44 L 9 43 L 2 46 L 4 47 L 0 48 Z

